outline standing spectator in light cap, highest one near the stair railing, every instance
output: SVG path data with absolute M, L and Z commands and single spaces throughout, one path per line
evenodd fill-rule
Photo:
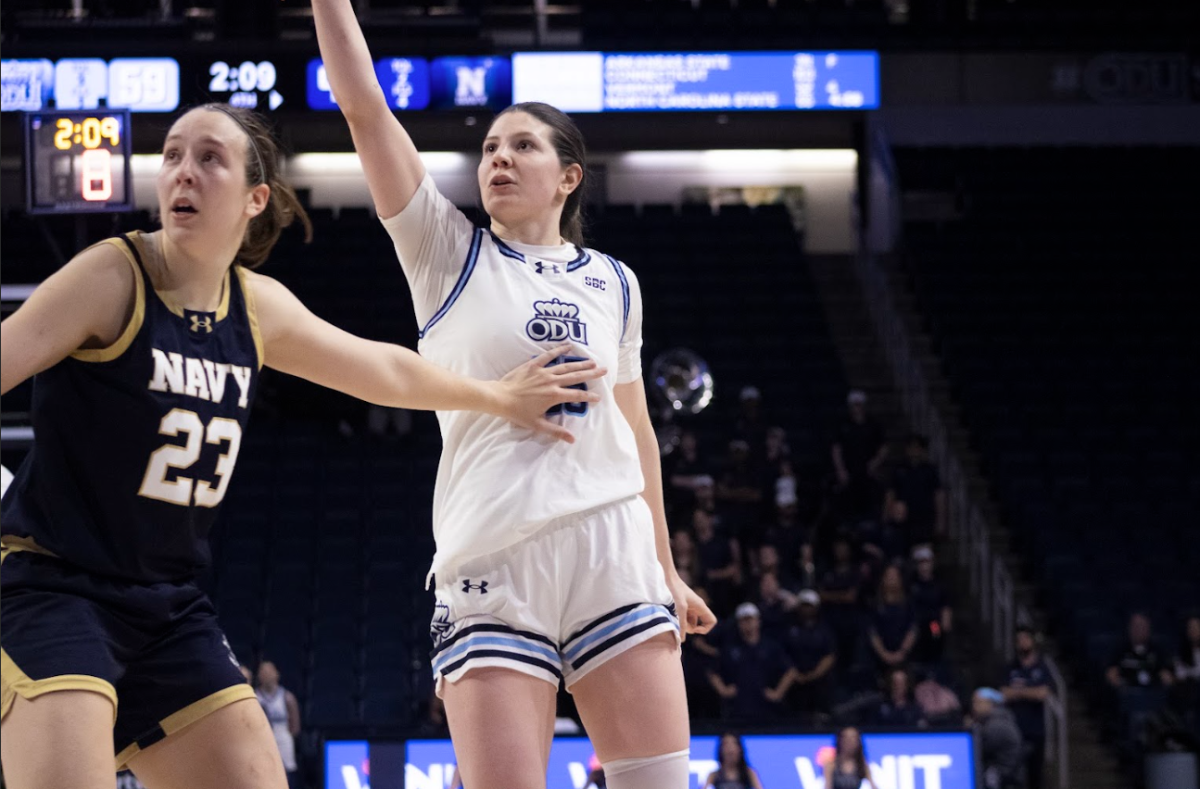
M 848 520 L 875 517 L 878 512 L 878 478 L 888 457 L 880 423 L 866 414 L 866 394 L 852 391 L 848 414 L 833 440 L 833 469 L 838 477 L 842 516 Z

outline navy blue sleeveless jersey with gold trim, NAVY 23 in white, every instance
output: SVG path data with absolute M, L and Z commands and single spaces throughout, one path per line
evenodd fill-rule
M 34 378 L 34 448 L 0 514 L 6 548 L 100 576 L 186 580 L 205 565 L 262 367 L 245 272 L 215 313 L 174 308 L 142 265 L 142 234 L 108 239 L 134 270 L 133 314 L 108 348 Z

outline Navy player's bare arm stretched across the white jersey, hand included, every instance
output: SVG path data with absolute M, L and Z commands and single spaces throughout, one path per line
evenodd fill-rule
M 311 313 L 281 283 L 250 273 L 263 332 L 264 363 L 370 403 L 438 411 L 482 411 L 514 424 L 574 441 L 545 417 L 562 403 L 596 403 L 577 384 L 602 378 L 593 361 L 546 367 L 566 348 L 554 348 L 499 381 L 456 375 L 401 345 L 355 337 Z

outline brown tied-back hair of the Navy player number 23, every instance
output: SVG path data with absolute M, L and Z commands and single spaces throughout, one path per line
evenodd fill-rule
M 271 126 L 260 114 L 242 107 L 210 103 L 199 109 L 223 113 L 246 133 L 246 183 L 271 187 L 271 197 L 263 212 L 250 221 L 246 235 L 238 248 L 238 263 L 247 269 L 257 269 L 266 261 L 271 248 L 280 240 L 283 228 L 300 219 L 304 225 L 305 243 L 312 241 L 312 221 L 300 205 L 295 189 L 280 175 L 282 151 L 271 133 Z

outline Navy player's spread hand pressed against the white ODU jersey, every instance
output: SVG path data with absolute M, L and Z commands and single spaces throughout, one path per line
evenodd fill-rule
M 574 444 L 571 432 L 547 420 L 546 411 L 564 403 L 599 403 L 600 396 L 589 392 L 587 386 L 572 387 L 604 378 L 608 371 L 590 359 L 551 363 L 570 350 L 570 345 L 551 348 L 502 378 L 499 415 L 518 427 Z

